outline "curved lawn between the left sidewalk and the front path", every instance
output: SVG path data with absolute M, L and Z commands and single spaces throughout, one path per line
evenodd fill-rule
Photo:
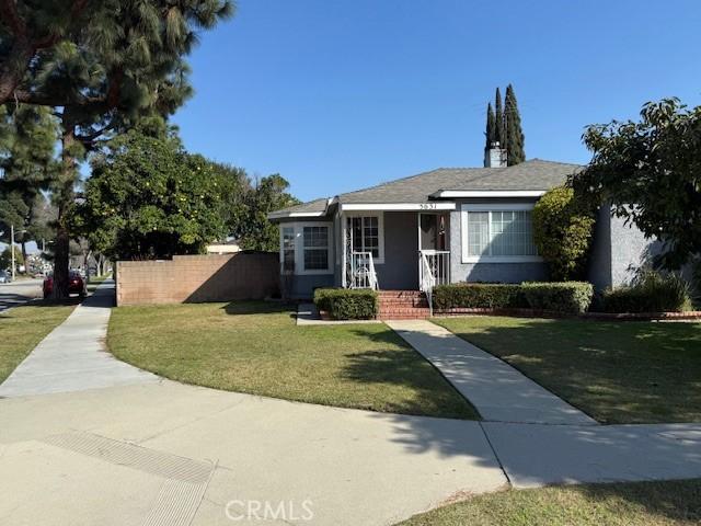
M 187 384 L 371 411 L 478 418 L 384 324 L 297 327 L 265 302 L 114 309 L 118 358 Z

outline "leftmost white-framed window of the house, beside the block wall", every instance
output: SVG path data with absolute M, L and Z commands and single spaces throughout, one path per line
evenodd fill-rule
M 330 222 L 280 225 L 280 263 L 295 274 L 331 274 L 332 232 Z

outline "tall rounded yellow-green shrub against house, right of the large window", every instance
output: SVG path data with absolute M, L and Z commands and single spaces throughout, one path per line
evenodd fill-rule
M 533 240 L 551 279 L 583 277 L 595 222 L 588 203 L 577 199 L 571 187 L 555 187 L 536 203 Z

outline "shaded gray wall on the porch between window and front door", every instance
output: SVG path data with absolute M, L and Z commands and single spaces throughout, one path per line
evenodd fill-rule
M 418 214 L 384 213 L 384 263 L 376 270 L 381 289 L 418 288 Z

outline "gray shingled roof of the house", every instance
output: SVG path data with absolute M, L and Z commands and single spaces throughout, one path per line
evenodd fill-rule
M 531 159 L 507 168 L 439 168 L 341 194 L 340 204 L 425 203 L 445 191 L 548 191 L 584 167 Z M 322 215 L 327 199 L 315 199 L 274 213 L 272 217 L 309 213 Z

